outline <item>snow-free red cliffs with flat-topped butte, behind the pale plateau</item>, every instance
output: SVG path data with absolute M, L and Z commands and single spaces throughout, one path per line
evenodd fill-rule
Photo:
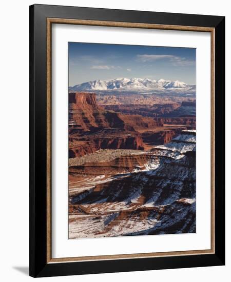
M 168 109 L 169 114 L 181 108 L 180 105 L 163 104 L 162 108 Z M 95 93 L 69 93 L 70 158 L 100 149 L 148 149 L 165 144 L 182 129 L 194 129 L 196 125 L 196 116 L 153 118 L 139 110 L 134 114 L 134 105 L 133 108 L 126 105 L 126 113 L 115 106 L 108 109 L 98 105 Z

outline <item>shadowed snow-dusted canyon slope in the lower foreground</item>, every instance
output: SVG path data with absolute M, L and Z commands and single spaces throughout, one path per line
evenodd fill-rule
M 145 153 L 145 166 L 71 195 L 69 238 L 196 232 L 196 131 Z

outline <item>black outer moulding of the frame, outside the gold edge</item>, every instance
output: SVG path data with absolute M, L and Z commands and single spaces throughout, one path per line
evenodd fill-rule
M 46 18 L 215 28 L 215 254 L 47 264 Z M 225 17 L 52 5 L 30 6 L 30 269 L 32 277 L 225 264 Z

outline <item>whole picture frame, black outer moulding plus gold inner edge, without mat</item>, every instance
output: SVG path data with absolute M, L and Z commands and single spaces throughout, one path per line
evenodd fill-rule
M 211 249 L 129 255 L 51 256 L 52 24 L 201 31 L 211 34 Z M 225 264 L 223 16 L 30 6 L 30 275 L 141 271 Z

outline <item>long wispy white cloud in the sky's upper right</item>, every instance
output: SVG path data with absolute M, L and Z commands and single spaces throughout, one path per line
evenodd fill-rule
M 184 57 L 178 57 L 174 55 L 149 55 L 149 54 L 143 54 L 143 55 L 137 55 L 138 61 L 141 62 L 153 62 L 161 59 L 168 60 L 173 66 L 192 66 L 195 64 L 194 61 L 186 59 Z

